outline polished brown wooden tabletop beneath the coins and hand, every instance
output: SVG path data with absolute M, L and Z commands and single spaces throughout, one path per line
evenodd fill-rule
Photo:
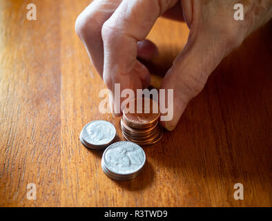
M 86 1 L 0 1 L 0 206 L 271 206 L 271 23 L 222 61 L 175 131 L 144 147 L 132 182 L 101 170 L 102 152 L 79 142 L 82 127 L 119 117 L 98 111 L 105 88 L 74 30 Z M 159 19 L 148 39 L 164 73 L 188 37 Z M 244 184 L 244 200 L 233 185 Z M 28 183 L 37 200 L 26 198 Z

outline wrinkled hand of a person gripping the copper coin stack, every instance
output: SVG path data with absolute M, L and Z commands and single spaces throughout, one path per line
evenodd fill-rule
M 235 3 L 243 4 L 244 21 L 233 19 Z M 156 46 L 145 38 L 160 16 L 186 21 L 190 28 L 188 42 L 161 86 L 174 89 L 173 119 L 161 122 L 171 131 L 220 61 L 271 19 L 272 1 L 93 1 L 77 18 L 75 30 L 110 90 L 115 83 L 121 84 L 121 90 L 148 86 L 150 73 L 137 57 L 151 59 L 157 55 Z

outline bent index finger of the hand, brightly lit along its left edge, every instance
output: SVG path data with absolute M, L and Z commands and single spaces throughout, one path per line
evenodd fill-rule
M 104 42 L 103 78 L 110 90 L 142 88 L 149 72 L 137 61 L 137 41 L 148 35 L 156 19 L 177 0 L 124 0 L 102 27 Z

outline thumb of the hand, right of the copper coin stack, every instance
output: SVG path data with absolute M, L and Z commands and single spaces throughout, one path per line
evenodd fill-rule
M 173 108 L 171 120 L 162 121 L 161 117 L 161 124 L 168 131 L 175 128 L 188 102 L 202 91 L 208 76 L 229 52 L 227 42 L 224 37 L 215 38 L 208 32 L 190 33 L 184 50 L 173 61 L 162 81 L 161 89 L 166 89 L 166 93 L 167 89 L 173 89 L 173 106 L 169 106 L 167 95 L 162 99 L 168 104 L 168 113 L 169 108 Z M 165 108 L 165 104 L 160 102 L 161 107 L 164 105 Z

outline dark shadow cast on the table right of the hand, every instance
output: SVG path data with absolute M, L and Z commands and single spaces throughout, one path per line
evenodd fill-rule
M 175 130 L 150 146 L 148 154 L 162 169 L 196 180 L 206 176 L 246 180 L 249 174 L 262 178 L 269 174 L 271 24 L 222 61 Z

